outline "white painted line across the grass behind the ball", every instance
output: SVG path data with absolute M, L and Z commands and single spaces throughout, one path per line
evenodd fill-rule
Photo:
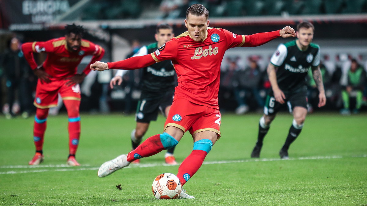
M 367 154 L 364 155 L 353 155 L 343 157 L 341 155 L 333 155 L 333 156 L 316 156 L 316 157 L 298 157 L 298 158 L 289 158 L 288 160 L 279 159 L 279 158 L 263 158 L 263 159 L 243 159 L 243 160 L 233 160 L 233 161 L 208 161 L 203 162 L 203 165 L 210 164 L 226 164 L 226 163 L 241 163 L 241 162 L 269 162 L 269 161 L 291 161 L 291 160 L 308 160 L 308 159 L 338 159 L 338 158 L 360 158 L 367 157 Z M 153 164 L 139 164 L 139 165 L 131 165 L 130 168 L 151 168 L 156 166 L 175 166 L 175 165 L 167 165 L 165 163 L 153 163 Z M 85 168 L 84 168 L 85 167 Z M 99 167 L 89 167 L 89 165 L 82 165 L 81 167 L 70 167 L 68 165 L 8 165 L 1 166 L 0 168 L 62 168 L 62 169 L 39 169 L 39 170 L 24 170 L 24 171 L 7 171 L 0 172 L 0 174 L 21 174 L 21 173 L 34 173 L 34 172 L 65 172 L 65 171 L 82 171 L 82 170 L 98 170 Z

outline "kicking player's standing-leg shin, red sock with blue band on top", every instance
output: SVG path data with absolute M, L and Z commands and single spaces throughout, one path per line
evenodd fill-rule
M 184 185 L 199 170 L 212 145 L 213 143 L 209 139 L 201 139 L 194 143 L 193 151 L 178 168 L 177 177 L 181 181 L 181 185 Z

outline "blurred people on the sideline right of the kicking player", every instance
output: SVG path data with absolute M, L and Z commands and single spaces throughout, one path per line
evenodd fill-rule
M 269 61 L 262 56 L 228 57 L 222 64 L 219 105 L 223 111 L 244 114 L 248 111 L 262 112 L 266 93 L 271 89 L 266 67 Z M 363 65 L 364 64 L 364 65 Z M 262 66 L 260 66 L 262 65 Z M 320 70 L 326 91 L 327 104 L 324 110 L 340 110 L 341 114 L 359 113 L 367 106 L 367 61 L 363 55 L 356 58 L 339 54 L 332 59 L 323 55 Z M 318 90 L 308 71 L 308 110 L 318 109 Z

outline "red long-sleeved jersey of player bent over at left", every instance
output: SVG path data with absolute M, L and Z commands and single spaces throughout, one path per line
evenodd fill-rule
M 84 56 L 93 55 L 91 63 L 101 60 L 105 50 L 99 45 L 88 40 L 82 40 L 78 51 L 69 51 L 66 48 L 65 37 L 51 39 L 45 42 L 35 41 L 22 45 L 24 57 L 32 69 L 37 68 L 33 58 L 33 52 L 46 52 L 47 58 L 43 63 L 44 70 L 51 75 L 51 80 L 62 80 L 72 77 L 77 73 L 77 66 Z M 90 72 L 90 64 L 84 69 L 84 73 Z

